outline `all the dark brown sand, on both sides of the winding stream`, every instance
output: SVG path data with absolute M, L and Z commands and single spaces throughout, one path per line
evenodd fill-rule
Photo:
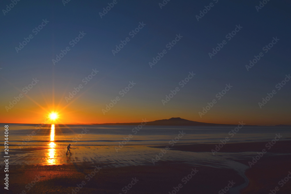
M 258 152 L 265 148 L 266 142 L 258 143 L 227 143 L 221 152 Z M 257 163 L 245 172 L 249 184 L 239 193 L 269 193 L 276 186 L 278 193 L 290 193 L 291 179 L 281 187 L 278 181 L 284 179 L 291 171 L 291 141 L 278 141 L 268 155 L 263 156 Z M 182 152 L 210 152 L 215 144 L 175 145 L 173 149 Z M 159 146 L 164 148 L 164 146 Z M 282 153 L 281 155 L 278 153 Z M 233 159 L 248 165 L 252 157 Z M 97 166 L 101 169 L 96 172 Z M 136 184 L 127 193 L 169 193 L 173 187 L 182 184 L 178 193 L 218 193 L 228 185 L 228 181 L 239 186 L 244 178 L 233 169 L 213 168 L 201 165 L 189 165 L 185 161 L 159 161 L 155 165 L 136 165 L 125 167 L 102 166 L 104 163 L 73 162 L 58 165 L 23 164 L 9 166 L 9 191 L 1 186 L 1 193 L 74 193 L 77 184 L 86 183 L 77 193 L 125 193 L 125 186 L 136 178 Z M 93 167 L 95 166 L 95 167 Z M 192 169 L 198 172 L 185 183 L 183 177 L 188 176 Z M 95 169 L 96 173 L 93 173 Z M 88 173 L 95 174 L 88 181 Z M 1 169 L 1 177 L 4 177 Z M 40 177 L 30 188 L 29 183 Z M 87 178 L 86 178 L 87 176 Z M 190 176 L 189 176 L 190 177 Z M 32 182 L 34 184 L 34 182 Z M 1 179 L 3 185 L 3 179 Z M 26 187 L 26 188 L 25 188 Z M 131 187 L 131 185 L 129 185 Z M 28 189 L 30 190 L 28 191 Z M 229 193 L 229 192 L 227 192 Z

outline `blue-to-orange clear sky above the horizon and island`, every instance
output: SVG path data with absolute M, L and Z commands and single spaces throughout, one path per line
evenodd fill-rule
M 289 1 L 163 2 L 1 1 L 0 122 L 291 124 Z

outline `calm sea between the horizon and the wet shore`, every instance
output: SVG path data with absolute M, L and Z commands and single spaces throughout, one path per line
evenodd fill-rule
M 46 146 L 53 141 L 55 146 L 65 146 L 69 143 L 78 146 L 119 145 L 127 140 L 126 145 L 160 145 L 168 144 L 182 131 L 186 134 L 179 138 L 177 142 L 179 144 L 217 143 L 226 137 L 230 138 L 229 142 L 267 141 L 274 139 L 278 133 L 283 135 L 282 140 L 291 138 L 291 127 L 244 126 L 234 134 L 230 131 L 235 129 L 235 126 L 143 126 L 139 131 L 134 129 L 137 126 L 128 125 L 55 125 L 41 128 L 36 126 L 9 124 L 9 144 Z M 1 124 L 1 134 L 4 137 L 3 129 L 4 124 Z

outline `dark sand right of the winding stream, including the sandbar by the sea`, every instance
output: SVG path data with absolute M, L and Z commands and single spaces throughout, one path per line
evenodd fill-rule
M 268 142 L 252 142 L 252 143 L 227 143 L 221 148 L 221 152 L 262 152 L 266 149 Z M 215 149 L 215 144 L 191 144 L 191 145 L 176 145 L 173 149 L 188 151 L 188 152 L 210 152 Z M 288 155 L 266 155 L 262 156 L 251 168 L 245 172 L 249 179 L 249 184 L 246 188 L 240 191 L 241 194 L 249 193 L 270 193 L 275 187 L 279 188 L 278 193 L 291 193 L 291 179 L 286 184 L 278 184 L 281 179 L 287 177 L 288 172 L 291 172 L 291 141 L 278 141 L 274 146 L 267 150 L 269 153 L 282 153 Z M 249 166 L 248 160 L 237 160 Z M 282 186 L 282 187 L 281 187 Z

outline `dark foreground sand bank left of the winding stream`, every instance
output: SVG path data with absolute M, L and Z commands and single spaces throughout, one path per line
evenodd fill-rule
M 228 184 L 228 180 L 234 180 L 236 184 L 242 184 L 244 181 L 233 170 L 197 168 L 170 162 L 155 166 L 102 168 L 89 181 L 85 177 L 94 170 L 91 164 L 15 165 L 11 168 L 13 170 L 9 175 L 9 188 L 12 193 L 21 193 L 36 175 L 40 176 L 40 179 L 27 193 L 72 193 L 72 189 L 82 181 L 86 184 L 77 193 L 124 193 L 122 189 L 131 184 L 132 178 L 138 181 L 128 193 L 168 193 L 178 184 L 183 184 L 179 193 L 217 193 Z M 191 173 L 192 168 L 196 168 L 198 172 L 184 184 L 181 180 Z M 3 191 L 3 188 L 1 190 Z

